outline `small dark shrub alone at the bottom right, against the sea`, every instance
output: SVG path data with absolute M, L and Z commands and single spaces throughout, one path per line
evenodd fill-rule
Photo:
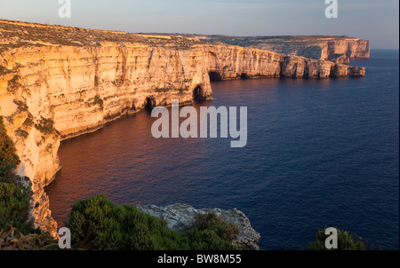
M 330 236 L 325 234 L 325 229 L 318 230 L 316 233 L 316 241 L 308 243 L 308 250 L 328 250 L 325 247 L 325 240 Z M 365 244 L 363 238 L 350 235 L 348 231 L 338 229 L 338 248 L 329 250 L 364 250 Z

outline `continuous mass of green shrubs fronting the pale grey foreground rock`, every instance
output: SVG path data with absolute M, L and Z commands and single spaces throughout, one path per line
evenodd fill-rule
M 76 201 L 68 219 L 73 248 L 100 250 L 236 249 L 238 230 L 215 215 L 198 216 L 184 232 L 134 206 L 116 205 L 104 195 Z

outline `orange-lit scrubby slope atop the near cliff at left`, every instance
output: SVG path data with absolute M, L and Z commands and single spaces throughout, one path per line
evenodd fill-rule
M 188 49 L 196 43 L 204 42 L 181 35 L 140 35 L 121 31 L 0 20 L 0 51 L 26 45 L 100 46 L 105 43 L 139 43 Z

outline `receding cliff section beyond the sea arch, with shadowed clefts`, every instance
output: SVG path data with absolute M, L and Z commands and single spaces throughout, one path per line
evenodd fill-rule
M 215 45 L 204 53 L 212 79 L 262 77 L 346 77 L 349 67 L 327 60 L 308 59 L 237 46 Z

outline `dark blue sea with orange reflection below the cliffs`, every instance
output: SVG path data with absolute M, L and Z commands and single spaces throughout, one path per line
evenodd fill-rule
M 62 225 L 71 203 L 106 193 L 118 203 L 236 208 L 264 249 L 306 248 L 317 229 L 399 248 L 399 53 L 372 51 L 360 79 L 212 83 L 198 106 L 248 106 L 248 143 L 155 139 L 147 111 L 60 147 L 47 189 Z

